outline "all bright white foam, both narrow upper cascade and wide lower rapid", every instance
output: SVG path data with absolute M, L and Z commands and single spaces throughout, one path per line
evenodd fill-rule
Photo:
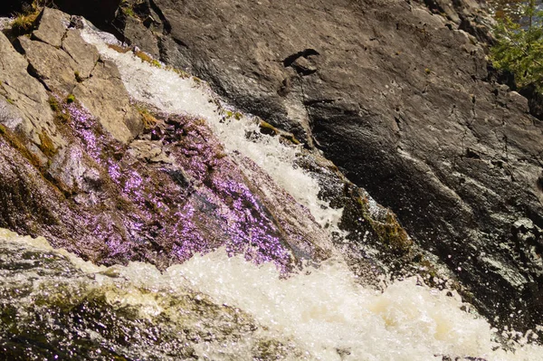
M 237 151 L 250 157 L 306 205 L 322 225 L 337 223 L 341 211 L 319 201 L 317 182 L 292 166 L 296 147 L 284 146 L 271 137 L 247 139 L 248 131 L 258 129 L 253 119 L 243 116 L 224 121 L 216 98 L 205 84 L 141 62 L 131 52 L 110 49 L 104 41 L 108 37 L 105 33 L 87 29 L 83 36 L 98 47 L 102 56 L 118 64 L 135 100 L 163 111 L 206 119 L 231 155 Z M 117 41 L 110 38 L 108 42 Z M 462 310 L 466 305 L 454 291 L 432 290 L 415 279 L 395 281 L 383 292 L 376 291 L 360 285 L 342 261 L 329 260 L 319 268 L 307 267 L 281 279 L 272 264 L 256 266 L 242 256 L 228 258 L 224 250 L 195 256 L 160 272 L 138 262 L 127 267 L 98 267 L 69 252 L 53 250 L 43 238 L 19 237 L 4 230 L 0 230 L 0 242 L 24 243 L 67 257 L 97 280 L 94 287 L 107 288 L 112 307 L 137 306 L 140 314 L 151 320 L 167 312 L 157 302 L 159 295 L 176 296 L 186 289 L 202 292 L 217 304 L 228 304 L 250 314 L 271 337 L 291 339 L 305 352 L 287 356 L 291 359 L 412 361 L 478 356 L 489 361 L 531 361 L 543 355 L 543 347 L 530 344 L 529 335 L 512 343 L 510 351 L 500 348 L 495 341 L 496 330 L 486 320 Z M 110 287 L 119 280 L 133 289 L 120 292 Z M 239 344 L 196 347 L 196 352 L 210 359 L 224 359 L 225 355 L 251 358 L 243 354 L 245 349 Z

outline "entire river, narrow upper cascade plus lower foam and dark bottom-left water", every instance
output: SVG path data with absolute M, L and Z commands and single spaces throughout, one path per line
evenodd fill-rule
M 293 166 L 296 147 L 247 138 L 251 117 L 224 121 L 205 83 L 116 52 L 108 33 L 84 39 L 115 62 L 131 97 L 205 119 L 230 157 L 249 157 L 331 233 L 341 210 Z M 224 105 L 228 109 L 227 105 Z M 232 109 L 235 111 L 235 109 Z M 410 278 L 364 286 L 339 258 L 286 277 L 223 248 L 158 271 L 97 266 L 43 238 L 0 230 L 0 352 L 5 359 L 538 360 L 532 332 L 497 330 L 456 291 Z M 2 357 L 2 356 L 0 356 Z M 465 357 L 465 358 L 464 358 Z M 476 358 L 481 357 L 481 358 Z

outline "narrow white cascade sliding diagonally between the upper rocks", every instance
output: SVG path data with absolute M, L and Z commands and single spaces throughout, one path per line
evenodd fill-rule
M 285 146 L 278 137 L 262 135 L 258 139 L 248 139 L 248 133 L 260 133 L 255 119 L 242 113 L 239 113 L 240 119 L 225 119 L 217 107 L 219 98 L 205 82 L 192 77 L 183 78 L 175 71 L 142 62 L 132 52 L 121 53 L 111 49 L 108 43 L 119 44 L 119 41 L 109 33 L 86 27 L 82 37 L 94 44 L 102 57 L 117 64 L 122 81 L 134 100 L 167 113 L 205 119 L 230 156 L 236 157 L 236 152 L 239 152 L 242 157 L 251 158 L 300 204 L 308 207 L 317 222 L 338 231 L 342 210 L 332 209 L 328 203 L 319 200 L 317 180 L 293 166 L 299 147 Z

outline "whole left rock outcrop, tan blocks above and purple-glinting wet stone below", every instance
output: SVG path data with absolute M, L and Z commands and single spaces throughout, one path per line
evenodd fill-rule
M 297 261 L 336 252 L 310 211 L 249 158 L 227 156 L 205 121 L 131 104 L 116 65 L 84 43 L 79 29 L 66 29 L 71 20 L 46 8 L 29 36 L 12 37 L 14 45 L 0 34 L 0 59 L 11 59 L 0 71 L 0 226 L 46 236 L 55 247 L 108 265 L 148 261 L 164 269 L 224 246 L 288 272 Z M 300 166 L 320 169 L 323 185 L 334 186 L 335 207 L 351 202 L 350 218 L 367 210 L 358 195 L 343 195 L 344 186 L 356 186 L 335 166 L 310 152 L 305 157 Z M 371 233 L 365 240 L 377 246 L 391 240 L 383 227 L 406 237 L 394 217 L 366 218 L 342 228 Z M 385 269 L 366 258 L 349 255 L 358 270 Z

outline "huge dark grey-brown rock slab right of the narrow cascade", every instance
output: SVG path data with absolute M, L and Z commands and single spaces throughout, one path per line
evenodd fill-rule
M 461 30 L 486 36 L 470 9 L 479 5 L 446 19 L 388 1 L 156 0 L 129 26 L 157 33 L 144 49 L 320 147 L 508 324 L 541 297 L 511 227 L 543 226 L 543 139 L 527 100 L 491 81 L 483 48 Z M 532 308 L 512 321 L 542 319 Z

